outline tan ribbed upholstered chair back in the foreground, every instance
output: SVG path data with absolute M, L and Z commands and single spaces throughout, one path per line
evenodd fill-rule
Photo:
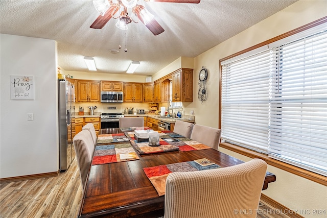
M 252 159 L 230 167 L 171 173 L 165 218 L 255 218 L 266 170 L 265 161 Z

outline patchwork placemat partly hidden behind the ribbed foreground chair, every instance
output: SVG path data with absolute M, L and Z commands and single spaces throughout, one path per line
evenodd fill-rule
M 173 172 L 203 171 L 205 169 L 215 169 L 220 167 L 221 166 L 217 164 L 201 166 L 194 161 L 187 161 L 181 163 L 146 167 L 143 168 L 143 171 L 151 181 L 156 191 L 158 192 L 158 195 L 163 196 L 166 192 L 166 179 L 169 174 Z

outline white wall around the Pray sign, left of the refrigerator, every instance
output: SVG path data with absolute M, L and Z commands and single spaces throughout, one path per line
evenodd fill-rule
M 0 37 L 0 177 L 57 172 L 57 44 Z M 10 100 L 10 75 L 34 76 L 35 100 Z M 27 120 L 27 113 L 33 113 L 33 121 Z

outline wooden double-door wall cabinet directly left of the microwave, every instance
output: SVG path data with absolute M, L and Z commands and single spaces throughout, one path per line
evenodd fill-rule
M 77 81 L 78 102 L 100 102 L 100 82 L 99 81 Z

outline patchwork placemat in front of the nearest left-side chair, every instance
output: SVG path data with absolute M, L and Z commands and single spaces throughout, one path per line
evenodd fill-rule
M 129 154 L 135 158 L 122 160 L 120 154 Z M 130 143 L 106 144 L 103 146 L 96 146 L 92 159 L 92 165 L 137 159 L 139 159 L 139 157 L 136 155 Z

